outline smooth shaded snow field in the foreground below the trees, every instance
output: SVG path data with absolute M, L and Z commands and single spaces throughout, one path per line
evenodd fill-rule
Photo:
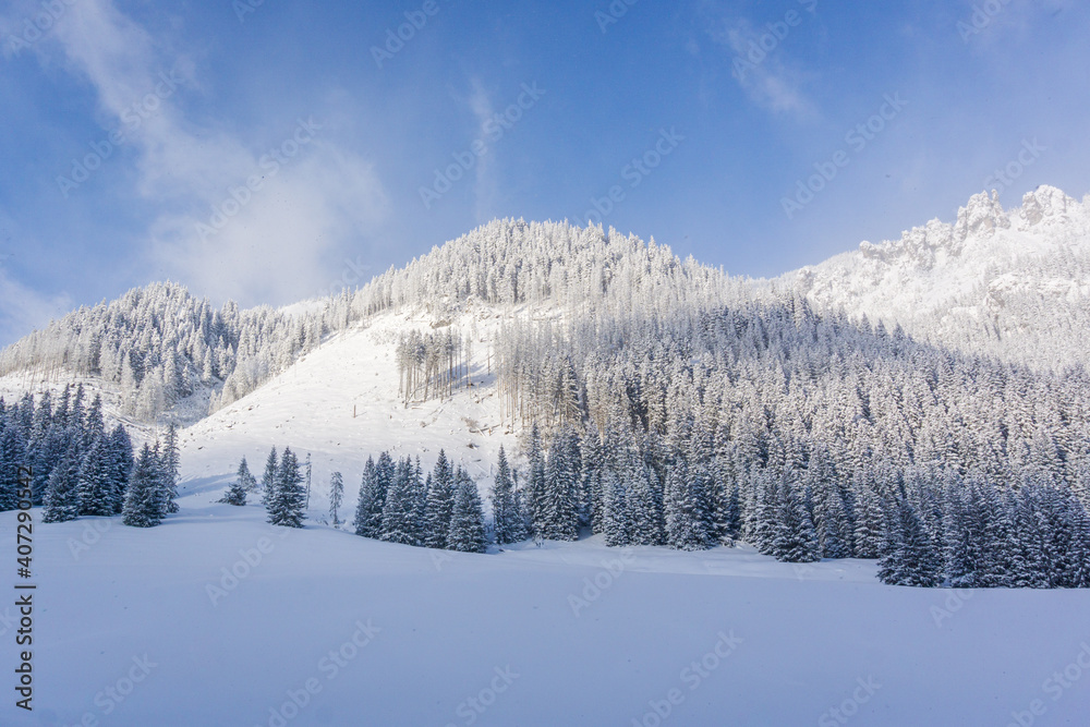
M 209 499 L 183 497 L 147 531 L 106 519 L 36 529 L 35 711 L 15 710 L 9 688 L 0 723 L 1085 725 L 1090 714 L 1086 592 L 891 587 L 870 562 L 798 569 L 744 547 L 594 538 L 434 552 L 275 529 L 259 507 Z M 4 553 L 14 522 L 0 516 Z

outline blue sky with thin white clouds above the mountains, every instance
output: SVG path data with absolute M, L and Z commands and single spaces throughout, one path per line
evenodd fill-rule
M 159 279 L 292 302 L 494 217 L 770 276 L 1090 192 L 1074 0 L 256 3 L 0 9 L 0 343 Z

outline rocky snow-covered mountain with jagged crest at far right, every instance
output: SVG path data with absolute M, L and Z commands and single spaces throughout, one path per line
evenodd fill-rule
M 863 242 L 777 278 L 819 310 L 839 308 L 969 354 L 1043 367 L 1088 363 L 1090 197 L 1041 186 L 1004 210 L 971 197 L 953 223 Z

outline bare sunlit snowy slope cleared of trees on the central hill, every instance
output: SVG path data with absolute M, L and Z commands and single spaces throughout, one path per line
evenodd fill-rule
M 431 469 L 445 449 L 452 463 L 482 483 L 491 482 L 500 445 L 517 448 L 510 421 L 501 421 L 496 376 L 488 374 L 498 316 L 479 305 L 448 319 L 444 331 L 476 332 L 473 386 L 409 405 L 398 396 L 398 337 L 432 329 L 434 317 L 385 313 L 366 326 L 334 335 L 250 396 L 183 431 L 183 477 L 192 481 L 187 486 L 207 487 L 216 495 L 209 499 L 216 499 L 239 458 L 245 456 L 256 469 L 272 446 L 311 453 L 316 517 L 326 511 L 330 473 L 343 472 L 350 508 L 364 462 L 382 451 L 395 458 L 420 456 Z

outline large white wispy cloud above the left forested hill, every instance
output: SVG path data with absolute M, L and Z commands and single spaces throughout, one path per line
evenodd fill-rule
M 183 87 L 159 94 L 131 144 L 137 152 L 135 191 L 156 216 L 148 230 L 149 263 L 198 292 L 244 303 L 313 294 L 335 276 L 325 263 L 338 247 L 374 231 L 385 216 L 377 173 L 338 144 L 330 124 L 295 149 L 291 128 L 254 143 L 186 118 L 183 97 L 199 93 L 195 64 L 169 52 L 164 39 L 153 38 L 112 0 L 80 0 L 34 50 L 48 54 L 57 46 L 68 69 L 97 92 L 106 125 L 125 123 L 133 105 L 165 78 Z M 323 112 L 336 116 L 329 111 L 314 110 L 318 125 Z M 263 160 L 281 147 L 295 154 L 269 174 L 271 165 Z M 269 179 L 246 204 L 231 207 L 238 197 L 232 190 L 263 174 Z M 233 214 L 209 233 L 209 220 L 225 204 Z

